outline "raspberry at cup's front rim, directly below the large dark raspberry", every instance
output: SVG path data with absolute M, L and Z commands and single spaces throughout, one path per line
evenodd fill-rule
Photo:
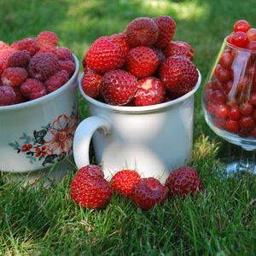
M 20 86 L 21 93 L 30 100 L 37 99 L 47 94 L 44 84 L 38 79 L 26 79 Z

